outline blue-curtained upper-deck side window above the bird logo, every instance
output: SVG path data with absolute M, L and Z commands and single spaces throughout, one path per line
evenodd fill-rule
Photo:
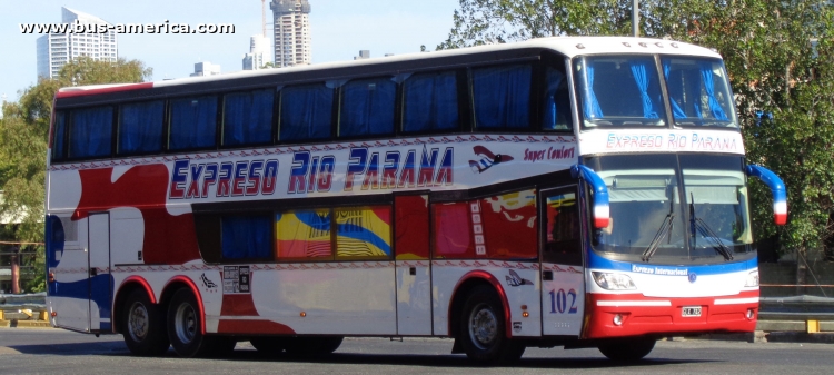
M 478 128 L 526 128 L 530 118 L 529 65 L 473 70 L 475 124 Z

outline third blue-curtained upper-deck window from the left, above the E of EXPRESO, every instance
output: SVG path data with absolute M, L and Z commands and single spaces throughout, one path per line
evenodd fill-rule
M 169 148 L 212 148 L 217 135 L 217 97 L 173 99 Z

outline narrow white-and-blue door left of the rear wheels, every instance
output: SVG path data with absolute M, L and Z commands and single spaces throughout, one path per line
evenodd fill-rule
M 110 278 L 110 214 L 89 217 L 89 286 L 90 330 L 109 332 L 112 282 Z

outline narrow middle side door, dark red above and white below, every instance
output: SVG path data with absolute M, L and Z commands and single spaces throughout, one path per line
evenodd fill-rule
M 431 335 L 427 195 L 394 197 L 397 335 Z

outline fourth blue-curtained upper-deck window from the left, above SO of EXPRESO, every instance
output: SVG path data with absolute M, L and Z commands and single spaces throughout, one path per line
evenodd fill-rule
M 224 146 L 272 140 L 274 92 L 274 89 L 266 89 L 224 96 Z

